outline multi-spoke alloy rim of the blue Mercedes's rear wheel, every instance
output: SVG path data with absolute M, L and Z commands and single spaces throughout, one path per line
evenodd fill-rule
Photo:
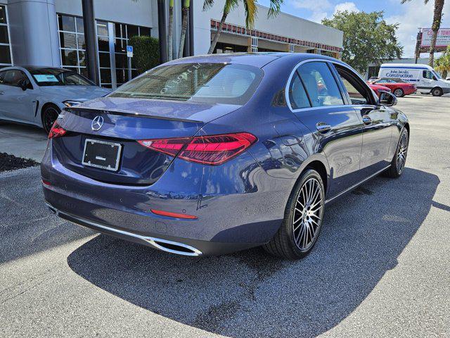
M 304 182 L 297 196 L 293 234 L 297 248 L 307 251 L 316 242 L 323 217 L 321 184 L 315 177 Z

